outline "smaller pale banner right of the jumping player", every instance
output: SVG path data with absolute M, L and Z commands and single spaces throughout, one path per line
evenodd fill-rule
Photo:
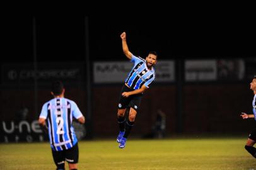
M 216 60 L 185 60 L 185 81 L 216 81 Z

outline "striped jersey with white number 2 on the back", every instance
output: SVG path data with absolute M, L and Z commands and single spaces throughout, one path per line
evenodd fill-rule
M 40 118 L 45 118 L 53 150 L 69 149 L 78 142 L 72 122 L 73 117 L 81 116 L 78 106 L 70 99 L 54 98 L 44 104 Z

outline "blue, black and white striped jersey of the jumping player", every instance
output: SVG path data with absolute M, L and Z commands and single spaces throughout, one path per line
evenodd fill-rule
M 134 67 L 125 82 L 132 89 L 140 89 L 143 84 L 149 88 L 150 84 L 154 81 L 154 68 L 148 69 L 146 60 L 141 57 L 132 55 L 131 62 L 134 63 Z

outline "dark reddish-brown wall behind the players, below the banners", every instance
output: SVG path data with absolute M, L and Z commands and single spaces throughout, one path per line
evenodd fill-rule
M 117 101 L 122 85 L 93 87 L 93 133 L 95 137 L 117 135 Z M 151 132 L 156 111 L 166 113 L 166 133 L 177 132 L 177 93 L 175 85 L 152 86 L 146 91 L 131 135 Z M 187 84 L 183 87 L 183 132 L 236 133 L 248 132 L 255 121 L 242 120 L 241 111 L 252 113 L 253 93 L 248 84 Z M 18 111 L 28 108 L 28 120 L 38 118 L 45 101 L 52 98 L 49 90 L 38 91 L 38 113 L 35 113 L 33 89 L 4 89 L 1 95 L 1 120 L 13 120 Z M 86 91 L 66 89 L 66 98 L 73 99 L 86 115 Z

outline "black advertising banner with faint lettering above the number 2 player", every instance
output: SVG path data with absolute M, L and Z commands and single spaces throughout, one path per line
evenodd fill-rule
M 60 79 L 65 81 L 81 81 L 83 79 L 83 64 L 74 62 L 39 63 L 37 71 L 33 63 L 2 64 L 2 84 L 29 84 L 37 78 L 38 82 Z

